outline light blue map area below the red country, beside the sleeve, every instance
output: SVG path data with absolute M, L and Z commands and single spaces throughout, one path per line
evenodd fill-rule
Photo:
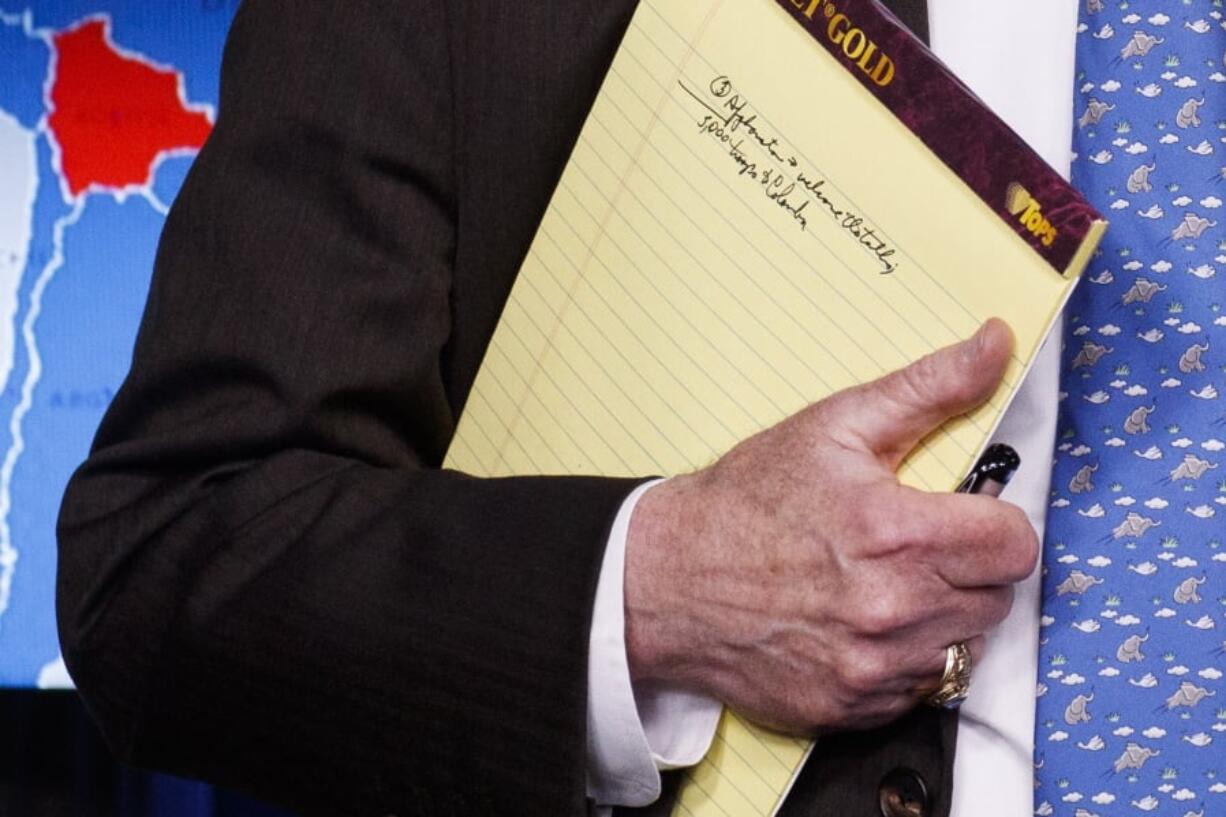
M 47 287 L 38 319 L 43 377 L 23 423 L 28 450 L 42 455 L 18 460 L 12 483 L 10 524 L 27 531 L 20 567 L 32 575 L 54 574 L 59 496 L 44 486 L 67 482 L 128 372 L 162 223 L 143 199 L 120 205 L 98 198 L 65 233 L 64 266 Z M 20 638 L 0 649 L 9 670 L 28 682 L 55 659 L 55 632 L 43 608 L 45 593 L 22 586 L 15 584 L 4 617 L 5 631 Z

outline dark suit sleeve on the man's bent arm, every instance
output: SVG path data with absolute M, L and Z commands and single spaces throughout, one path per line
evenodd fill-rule
M 249 0 L 59 622 L 130 762 L 306 813 L 571 815 L 631 485 L 439 470 L 457 406 L 449 4 Z

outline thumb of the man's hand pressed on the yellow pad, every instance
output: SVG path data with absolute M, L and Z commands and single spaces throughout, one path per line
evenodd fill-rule
M 998 318 L 972 337 L 937 350 L 879 380 L 828 401 L 826 429 L 851 438 L 890 469 L 929 432 L 992 396 L 1013 353 L 1013 332 Z

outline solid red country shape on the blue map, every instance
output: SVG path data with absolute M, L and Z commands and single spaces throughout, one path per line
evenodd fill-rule
M 51 132 L 72 195 L 150 182 L 163 151 L 199 148 L 212 123 L 184 107 L 178 75 L 118 53 L 107 21 L 55 34 Z

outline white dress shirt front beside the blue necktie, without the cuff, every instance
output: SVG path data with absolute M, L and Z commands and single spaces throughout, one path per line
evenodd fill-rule
M 1076 0 L 929 0 L 937 54 L 1047 162 L 1068 177 L 1073 147 Z M 1022 470 L 1003 496 L 1043 535 L 1059 393 L 1060 330 L 1035 362 L 997 439 Z M 1038 570 L 1018 586 L 1013 612 L 988 635 L 962 704 L 953 817 L 1034 813 Z

